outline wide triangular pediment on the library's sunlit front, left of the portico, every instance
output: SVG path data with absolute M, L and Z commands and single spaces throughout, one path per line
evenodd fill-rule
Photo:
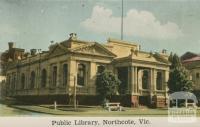
M 98 43 L 92 43 L 85 46 L 81 46 L 76 49 L 73 49 L 72 51 L 77 53 L 97 55 L 97 56 L 108 56 L 108 57 L 116 56 L 115 54 L 113 54 L 108 49 L 104 48 Z

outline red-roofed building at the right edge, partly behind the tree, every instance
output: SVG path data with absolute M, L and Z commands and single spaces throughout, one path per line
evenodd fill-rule
M 186 52 L 181 56 L 183 65 L 189 70 L 190 79 L 194 83 L 194 90 L 200 91 L 200 55 Z

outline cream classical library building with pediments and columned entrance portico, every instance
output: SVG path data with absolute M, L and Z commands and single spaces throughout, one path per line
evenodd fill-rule
M 46 98 L 42 101 L 70 103 L 76 86 L 80 104 L 95 103 L 96 74 L 108 69 L 121 80 L 122 103 L 157 107 L 166 104 L 170 63 L 165 50 L 144 52 L 140 45 L 116 39 L 104 44 L 83 41 L 72 33 L 69 39 L 42 52 L 32 49 L 24 53 L 9 43 L 3 56 L 7 60 L 7 96 L 21 101 Z

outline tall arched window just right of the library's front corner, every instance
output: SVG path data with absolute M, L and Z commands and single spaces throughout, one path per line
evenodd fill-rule
M 86 67 L 84 64 L 78 64 L 77 84 L 80 86 L 85 85 Z

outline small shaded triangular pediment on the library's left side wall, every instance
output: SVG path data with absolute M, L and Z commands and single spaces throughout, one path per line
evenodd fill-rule
M 60 44 L 56 44 L 49 52 L 49 57 L 53 57 L 53 56 L 58 56 L 58 55 L 62 55 L 64 53 L 67 53 L 67 48 L 63 47 Z

